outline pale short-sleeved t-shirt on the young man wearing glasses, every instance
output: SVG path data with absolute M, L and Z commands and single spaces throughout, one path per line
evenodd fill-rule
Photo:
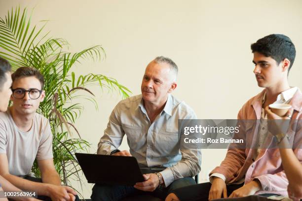
M 34 161 L 51 159 L 52 134 L 48 120 L 36 113 L 29 132 L 18 129 L 7 110 L 0 112 L 0 154 L 6 154 L 9 173 L 24 177 Z

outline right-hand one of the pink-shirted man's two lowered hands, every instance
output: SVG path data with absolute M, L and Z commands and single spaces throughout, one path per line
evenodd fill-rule
M 228 198 L 240 198 L 245 196 L 254 195 L 257 191 L 261 190 L 259 181 L 251 181 L 250 183 L 238 188 Z

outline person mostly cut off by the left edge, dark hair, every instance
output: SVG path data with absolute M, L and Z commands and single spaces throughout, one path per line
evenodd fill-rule
M 0 57 L 0 112 L 5 112 L 7 110 L 7 106 L 9 103 L 11 92 L 11 74 L 10 74 L 11 66 L 5 59 Z M 12 185 L 9 181 L 0 176 L 0 192 L 7 191 L 21 191 L 14 185 Z M 6 201 L 7 199 L 2 198 L 1 201 Z M 14 198 L 13 200 L 36 200 L 34 198 Z

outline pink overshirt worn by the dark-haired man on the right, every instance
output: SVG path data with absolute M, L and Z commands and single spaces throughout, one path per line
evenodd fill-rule
M 262 111 L 262 99 L 265 90 L 257 96 L 248 100 L 240 109 L 238 113 L 238 119 L 250 120 L 260 119 Z M 298 89 L 292 100 L 289 102 L 294 108 L 292 119 L 302 119 L 302 93 Z M 251 131 L 246 130 L 246 136 L 253 135 L 255 131 L 258 131 L 259 124 L 257 124 Z M 257 132 L 256 132 L 257 133 Z M 299 161 L 302 162 L 302 129 L 293 131 L 289 129 L 287 136 L 290 142 L 294 144 L 294 147 L 300 149 L 294 149 Z M 270 140 L 273 140 L 273 136 Z M 238 182 L 245 176 L 245 184 L 249 183 L 253 179 L 258 179 L 261 182 L 262 189 L 256 193 L 273 193 L 287 196 L 288 180 L 281 164 L 281 157 L 278 148 L 275 149 L 263 149 L 256 161 L 253 161 L 254 149 L 239 149 L 232 148 L 227 150 L 227 156 L 219 167 L 216 167 L 211 173 L 221 173 L 226 177 L 226 183 L 232 184 Z

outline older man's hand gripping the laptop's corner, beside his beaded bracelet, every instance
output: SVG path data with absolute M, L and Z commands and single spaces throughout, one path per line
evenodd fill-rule
M 159 179 L 157 174 L 144 174 L 145 180 L 144 182 L 138 182 L 134 185 L 134 188 L 142 190 L 142 191 L 154 191 L 159 185 Z

